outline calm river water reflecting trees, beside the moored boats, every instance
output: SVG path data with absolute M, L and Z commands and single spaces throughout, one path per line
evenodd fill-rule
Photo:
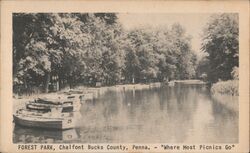
M 15 126 L 14 143 L 236 143 L 237 97 L 211 96 L 205 85 L 108 91 L 81 108 L 79 128 Z M 230 99 L 230 100 L 228 100 Z M 227 107 L 228 103 L 234 103 Z

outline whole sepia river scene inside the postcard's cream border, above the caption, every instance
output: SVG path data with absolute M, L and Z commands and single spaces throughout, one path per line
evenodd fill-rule
M 239 143 L 238 13 L 12 13 L 26 143 Z

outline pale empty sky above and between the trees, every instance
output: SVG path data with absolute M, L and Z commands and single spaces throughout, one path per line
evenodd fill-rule
M 203 27 L 208 22 L 211 14 L 188 13 L 121 13 L 118 18 L 125 29 L 133 29 L 141 26 L 170 27 L 174 23 L 180 23 L 188 35 L 192 37 L 192 49 L 201 55 L 201 34 Z

